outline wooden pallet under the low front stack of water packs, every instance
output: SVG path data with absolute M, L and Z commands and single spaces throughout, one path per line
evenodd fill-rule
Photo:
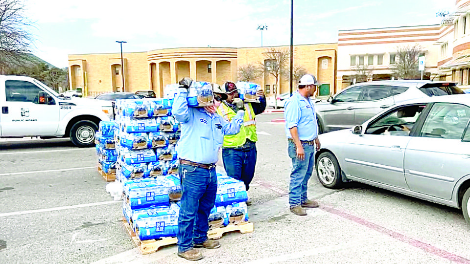
M 142 255 L 153 253 L 162 246 L 172 245 L 178 242 L 178 239 L 176 237 L 161 238 L 159 240 L 152 239 L 152 240 L 141 241 L 139 237 L 136 235 L 136 233 L 134 232 L 134 229 L 129 225 L 129 223 L 125 219 L 123 222 L 124 222 L 124 226 L 126 227 L 127 232 L 129 233 L 129 236 L 131 236 L 132 241 L 134 241 L 134 243 L 136 244 L 137 248 L 139 249 Z M 227 232 L 240 231 L 240 233 L 245 234 L 245 233 L 253 232 L 253 230 L 254 230 L 253 223 L 243 222 L 237 225 L 229 224 L 225 227 L 214 228 L 212 230 L 209 230 L 209 232 L 207 232 L 207 236 L 210 239 L 220 239 L 222 235 Z

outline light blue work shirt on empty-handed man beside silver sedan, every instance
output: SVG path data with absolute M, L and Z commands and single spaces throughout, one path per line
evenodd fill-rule
M 290 129 L 297 127 L 299 139 L 311 141 L 318 136 L 317 114 L 310 99 L 294 92 L 284 104 L 285 134 L 292 138 Z

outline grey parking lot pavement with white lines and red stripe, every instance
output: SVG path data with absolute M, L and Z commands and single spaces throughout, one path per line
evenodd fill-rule
M 330 190 L 316 177 L 308 216 L 287 206 L 290 160 L 283 124 L 258 116 L 258 165 L 248 194 L 255 231 L 228 233 L 198 263 L 470 264 L 460 210 L 352 184 Z M 0 263 L 189 263 L 174 245 L 142 256 L 122 225 L 122 201 L 105 192 L 93 148 L 67 140 L 0 142 Z

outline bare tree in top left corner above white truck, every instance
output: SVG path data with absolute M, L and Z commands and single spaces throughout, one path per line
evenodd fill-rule
M 34 37 L 28 31 L 33 22 L 24 15 L 23 0 L 0 0 L 0 73 L 29 59 Z

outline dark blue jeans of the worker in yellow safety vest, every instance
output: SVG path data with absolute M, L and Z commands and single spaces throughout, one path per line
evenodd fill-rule
M 257 150 L 256 146 L 250 149 L 223 148 L 222 158 L 227 175 L 245 183 L 246 190 L 255 176 Z

